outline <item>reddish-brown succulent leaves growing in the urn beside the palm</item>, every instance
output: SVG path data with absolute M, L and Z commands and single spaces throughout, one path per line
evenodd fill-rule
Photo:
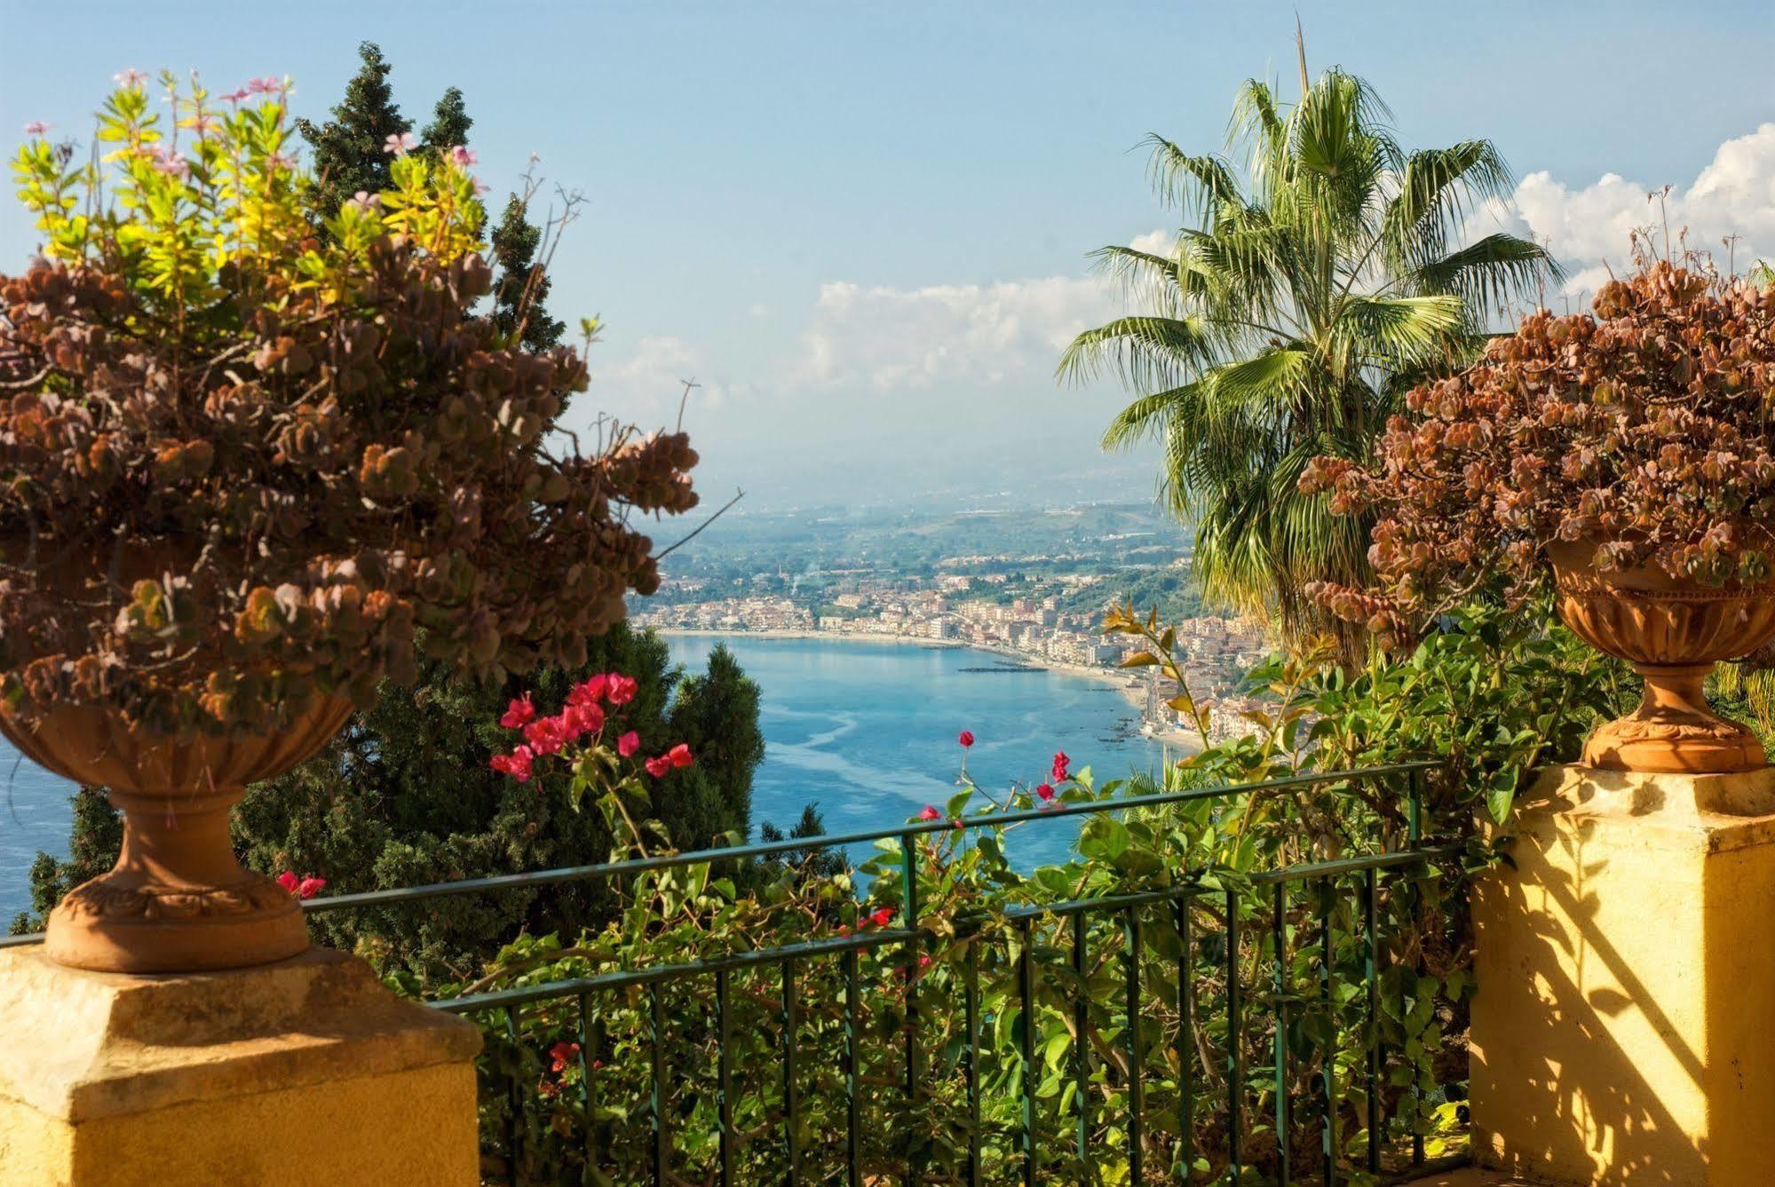
M 1303 490 L 1376 516 L 1381 586 L 1315 598 L 1397 641 L 1493 575 L 1528 596 L 1551 541 L 1596 541 L 1603 570 L 1768 578 L 1775 291 L 1653 261 L 1594 311 L 1537 311 L 1466 373 L 1415 389 L 1372 467 L 1308 468 Z

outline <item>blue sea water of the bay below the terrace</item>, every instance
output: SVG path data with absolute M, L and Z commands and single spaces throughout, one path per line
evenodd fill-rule
M 1156 770 L 1161 747 L 1136 733 L 1127 701 L 1104 683 L 1042 669 L 1008 671 L 966 648 L 850 639 L 673 635 L 674 662 L 696 671 L 724 642 L 761 690 L 765 761 L 753 784 L 753 821 L 785 832 L 816 804 L 827 832 L 891 829 L 955 793 L 967 772 L 994 793 L 1040 782 L 1054 751 L 1099 781 Z M 0 742 L 0 932 L 30 905 L 30 862 L 64 855 L 75 788 Z M 985 806 L 982 806 L 985 807 Z M 1012 834 L 1012 859 L 1065 857 L 1076 820 Z M 861 853 L 856 853 L 861 855 Z

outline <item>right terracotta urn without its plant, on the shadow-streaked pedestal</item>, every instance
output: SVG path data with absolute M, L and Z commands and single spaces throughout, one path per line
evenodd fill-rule
M 1775 639 L 1775 582 L 1704 586 L 1658 568 L 1601 573 L 1596 541 L 1548 546 L 1558 616 L 1598 651 L 1645 681 L 1637 710 L 1599 726 L 1589 766 L 1642 772 L 1734 772 L 1768 765 L 1763 743 L 1708 706 L 1713 665 Z

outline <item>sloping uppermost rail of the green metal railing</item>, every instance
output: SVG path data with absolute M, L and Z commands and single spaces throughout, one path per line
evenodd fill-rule
M 556 882 L 579 882 L 586 878 L 609 878 L 650 869 L 674 869 L 715 861 L 738 861 L 749 857 L 769 857 L 772 853 L 792 853 L 806 850 L 827 850 L 843 845 L 866 845 L 870 841 L 898 839 L 905 836 L 923 836 L 928 832 L 955 832 L 969 829 L 996 829 L 1030 820 L 1058 820 L 1067 816 L 1086 816 L 1100 813 L 1120 813 L 1131 807 L 1159 807 L 1163 804 L 1184 804 L 1189 800 L 1212 800 L 1246 791 L 1264 791 L 1269 788 L 1306 788 L 1326 782 L 1345 782 L 1351 779 L 1377 779 L 1402 775 L 1415 770 L 1434 770 L 1440 759 L 1418 759 L 1411 763 L 1390 763 L 1386 766 L 1356 766 L 1349 770 L 1326 770 L 1305 775 L 1285 775 L 1282 779 L 1262 779 L 1257 782 L 1234 782 L 1216 788 L 1195 788 L 1189 791 L 1161 791 L 1156 795 L 1131 795 L 1118 800 L 1092 800 L 1088 804 L 1054 804 L 1053 807 L 1030 807 L 1012 813 L 978 813 L 955 820 L 914 820 L 893 829 L 872 829 L 866 832 L 836 832 L 816 837 L 793 837 L 783 841 L 760 841 L 758 845 L 735 845 L 728 848 L 690 850 L 685 853 L 664 853 L 660 857 L 637 857 L 619 862 L 598 862 L 593 866 L 561 866 L 557 869 L 536 869 L 532 873 L 508 873 L 490 878 L 465 878 L 460 882 L 431 882 L 426 885 L 406 885 L 390 891 L 362 891 L 357 894 L 334 894 L 314 898 L 304 903 L 309 912 L 344 910 L 348 907 L 380 907 L 387 903 L 408 903 L 428 898 L 446 898 L 451 894 L 479 894 L 485 891 L 522 889 L 532 885 L 552 885 Z

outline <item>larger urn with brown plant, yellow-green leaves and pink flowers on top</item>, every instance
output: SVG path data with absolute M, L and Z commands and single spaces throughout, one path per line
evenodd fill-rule
M 580 357 L 476 316 L 470 153 L 390 142 L 392 190 L 321 218 L 286 83 L 163 78 L 160 115 L 146 82 L 119 76 L 101 160 L 20 149 L 44 247 L 0 277 L 0 731 L 122 811 L 46 944 L 126 972 L 302 951 L 229 846 L 245 784 L 421 649 L 584 662 L 659 584 L 632 513 L 696 502 L 682 433 L 600 422 L 582 452 Z

